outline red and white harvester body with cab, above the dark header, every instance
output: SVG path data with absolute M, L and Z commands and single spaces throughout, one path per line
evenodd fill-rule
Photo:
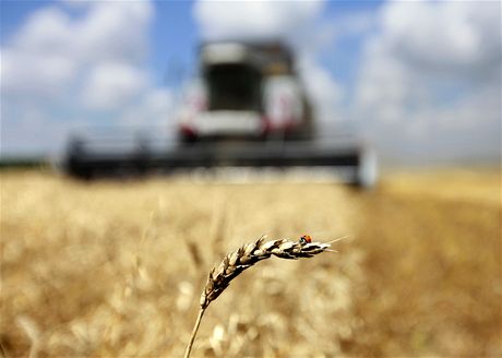
M 210 43 L 180 116 L 180 139 L 311 139 L 311 109 L 282 44 Z

